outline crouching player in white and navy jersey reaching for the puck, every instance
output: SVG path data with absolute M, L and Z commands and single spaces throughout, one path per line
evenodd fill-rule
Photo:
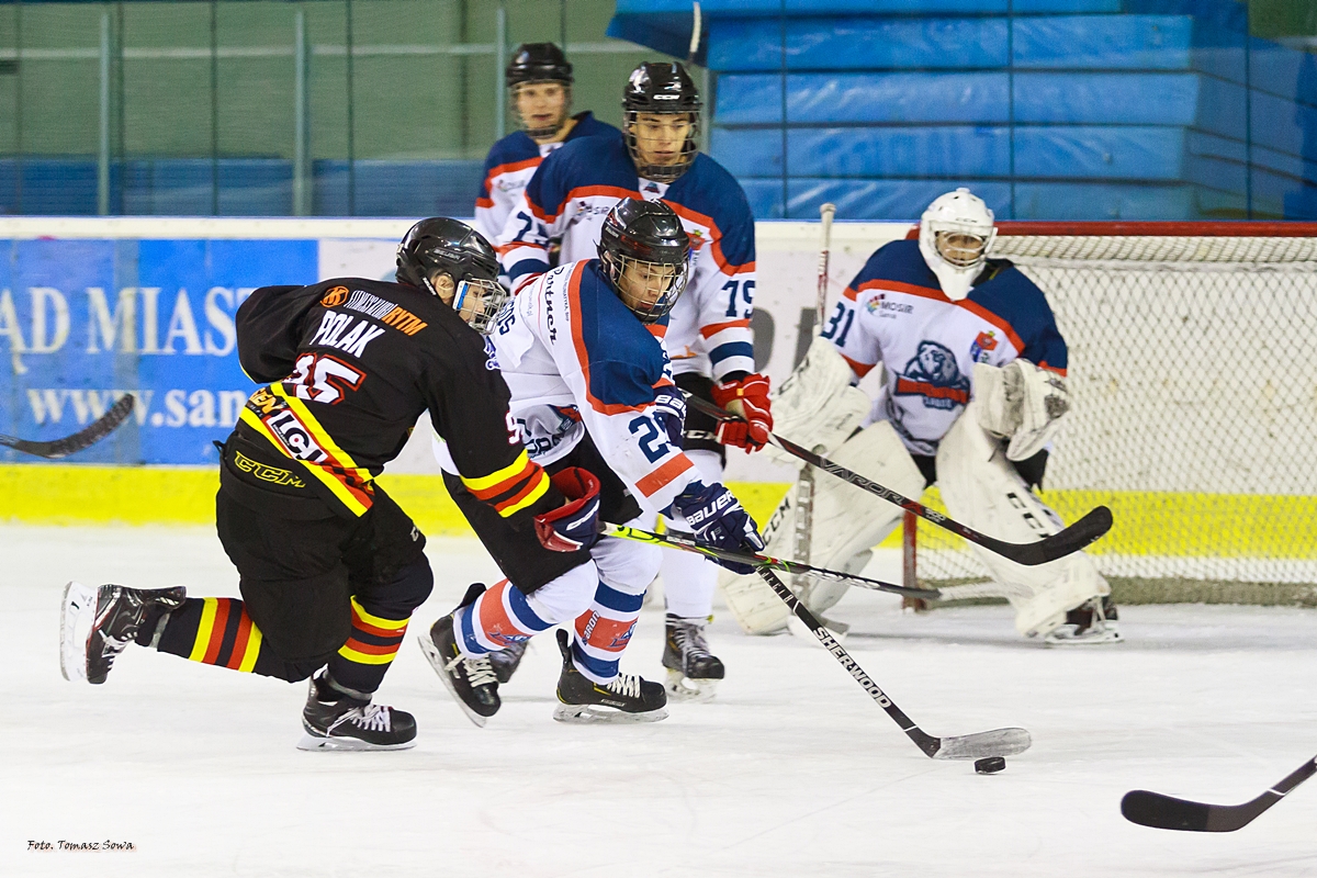
M 539 275 L 491 336 L 490 362 L 512 392 L 531 462 L 577 503 L 540 516 L 536 533 L 518 530 L 483 502 L 499 486 L 457 478 L 437 449 L 449 492 L 508 578 L 473 587 L 421 641 L 478 724 L 498 710 L 489 657 L 560 623 L 573 623 L 573 636 L 570 646 L 566 632 L 558 637 L 556 719 L 666 715 L 662 686 L 618 670 L 660 550 L 598 538 L 601 519 L 627 524 L 657 511 L 719 548 L 764 545 L 736 498 L 703 479 L 676 441 L 670 400 L 680 392 L 657 334 L 686 286 L 681 221 L 662 203 L 624 199 L 607 215 L 598 254 Z

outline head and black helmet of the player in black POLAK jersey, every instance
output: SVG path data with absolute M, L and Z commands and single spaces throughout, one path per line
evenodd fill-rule
M 508 300 L 498 269 L 489 241 L 448 217 L 421 220 L 398 245 L 398 282 L 435 294 L 482 336 Z

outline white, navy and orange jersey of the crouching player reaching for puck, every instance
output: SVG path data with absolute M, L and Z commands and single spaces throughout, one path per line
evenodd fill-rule
M 491 338 L 531 459 L 552 463 L 589 434 L 651 512 L 698 482 L 655 409 L 656 392 L 672 386 L 660 334 L 622 304 L 598 259 L 558 266 L 522 290 Z

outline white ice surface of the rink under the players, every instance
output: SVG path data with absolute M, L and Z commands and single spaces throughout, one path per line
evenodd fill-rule
M 429 555 L 415 631 L 494 571 L 474 541 Z M 1243 802 L 1317 753 L 1310 611 L 1129 607 L 1123 645 L 1063 650 L 1018 638 L 1005 607 L 921 617 L 847 595 L 846 648 L 926 731 L 1033 733 L 992 777 L 921 754 L 822 649 L 726 613 L 718 698 L 662 723 L 552 721 L 541 637 L 477 729 L 408 642 L 381 700 L 416 715 L 416 749 L 303 753 L 303 684 L 138 648 L 104 686 L 59 677 L 67 579 L 234 595 L 212 532 L 5 527 L 0 558 L 3 875 L 1317 874 L 1317 786 L 1231 835 L 1119 816 L 1138 787 Z M 623 667 L 661 679 L 661 632 L 651 606 Z

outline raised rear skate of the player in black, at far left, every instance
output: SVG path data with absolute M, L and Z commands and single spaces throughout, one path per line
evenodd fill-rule
M 65 586 L 59 619 L 59 670 L 67 681 L 104 683 L 115 659 L 149 619 L 183 606 L 187 591 L 107 584 Z

